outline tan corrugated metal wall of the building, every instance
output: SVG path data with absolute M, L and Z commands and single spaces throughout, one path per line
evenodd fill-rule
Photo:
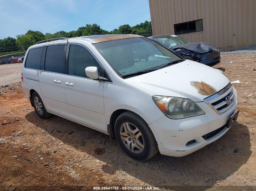
M 149 0 L 152 32 L 174 34 L 173 24 L 203 18 L 203 32 L 182 34 L 215 47 L 256 44 L 256 0 Z

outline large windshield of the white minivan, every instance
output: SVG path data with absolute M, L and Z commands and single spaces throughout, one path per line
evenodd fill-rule
M 95 43 L 94 46 L 121 76 L 158 69 L 181 60 L 168 49 L 144 37 Z

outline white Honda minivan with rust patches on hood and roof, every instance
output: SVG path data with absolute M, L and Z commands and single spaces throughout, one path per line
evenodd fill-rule
M 208 145 L 239 111 L 224 72 L 138 35 L 39 41 L 28 48 L 21 77 L 39 117 L 54 114 L 108 134 L 140 161 Z

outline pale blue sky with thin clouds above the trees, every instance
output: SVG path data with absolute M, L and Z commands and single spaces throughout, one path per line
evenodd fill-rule
M 55 33 L 96 23 L 104 30 L 150 21 L 148 0 L 1 0 L 0 39 L 28 30 Z

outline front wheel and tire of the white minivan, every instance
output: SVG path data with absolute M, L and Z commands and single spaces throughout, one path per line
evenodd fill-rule
M 135 160 L 146 161 L 158 152 L 157 142 L 148 124 L 131 111 L 118 116 L 115 135 L 123 151 Z

